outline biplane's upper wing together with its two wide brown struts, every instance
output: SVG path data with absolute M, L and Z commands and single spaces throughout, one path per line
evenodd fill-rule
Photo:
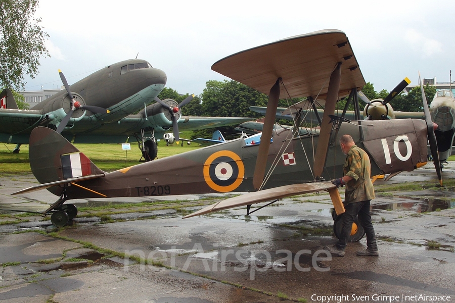
M 326 100 L 323 122 L 333 114 L 336 100 L 366 84 L 346 34 L 327 29 L 282 39 L 228 56 L 212 65 L 212 70 L 268 94 L 262 134 L 271 136 L 283 97 Z M 274 84 L 275 83 L 275 84 Z M 322 124 L 314 161 L 314 176 L 323 171 L 329 141 L 329 121 Z M 253 186 L 259 190 L 265 172 L 269 144 L 258 150 Z

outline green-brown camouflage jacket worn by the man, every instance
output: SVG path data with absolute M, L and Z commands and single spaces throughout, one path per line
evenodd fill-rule
M 346 182 L 344 203 L 354 203 L 375 198 L 375 189 L 371 182 L 371 164 L 367 153 L 353 145 L 343 166 L 345 176 L 354 178 Z

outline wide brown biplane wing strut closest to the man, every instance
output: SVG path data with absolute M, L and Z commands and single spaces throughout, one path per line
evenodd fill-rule
M 335 70 L 330 75 L 329 87 L 327 91 L 326 107 L 321 124 L 321 131 L 319 140 L 317 141 L 316 157 L 313 164 L 314 178 L 319 180 L 323 174 L 324 166 L 327 158 L 327 149 L 329 148 L 330 132 L 332 126 L 330 125 L 329 115 L 335 114 L 335 106 L 338 100 L 338 92 L 341 82 L 341 62 L 337 63 Z M 268 107 L 267 107 L 268 109 Z M 261 142 L 262 143 L 262 142 Z

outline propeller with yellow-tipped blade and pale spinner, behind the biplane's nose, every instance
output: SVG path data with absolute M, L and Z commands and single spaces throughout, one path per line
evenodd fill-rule
M 382 100 L 374 99 L 370 101 L 368 97 L 362 92 L 358 91 L 358 96 L 362 99 L 363 102 L 367 104 L 363 110 L 363 114 L 366 116 L 365 120 L 380 120 L 380 119 L 389 119 L 389 115 L 393 116 L 393 109 L 388 104 L 395 96 L 397 96 L 400 91 L 402 91 L 411 80 L 409 78 L 404 78 L 392 91 Z

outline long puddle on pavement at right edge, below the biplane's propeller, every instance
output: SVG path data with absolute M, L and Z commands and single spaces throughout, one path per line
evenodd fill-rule
M 372 209 L 391 210 L 391 211 L 414 211 L 416 213 L 435 212 L 437 210 L 446 210 L 455 207 L 455 201 L 438 199 L 438 198 L 422 198 L 417 201 L 408 201 L 401 203 L 374 204 Z

